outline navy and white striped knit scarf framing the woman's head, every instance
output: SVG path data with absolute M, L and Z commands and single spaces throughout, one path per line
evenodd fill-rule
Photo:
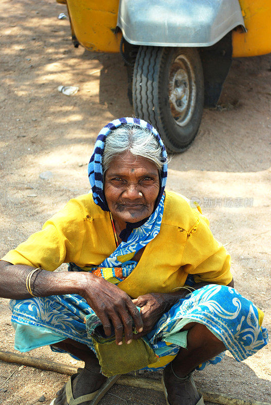
M 165 184 L 166 184 L 166 178 L 167 178 L 167 154 L 165 150 L 165 146 L 160 138 L 160 135 L 156 131 L 155 128 L 151 126 L 151 124 L 147 123 L 143 119 L 140 118 L 133 118 L 133 117 L 126 117 L 126 118 L 119 118 L 119 119 L 114 119 L 111 121 L 111 123 L 108 123 L 99 133 L 95 146 L 94 146 L 94 152 L 91 157 L 91 160 L 89 160 L 88 164 L 88 179 L 89 183 L 91 183 L 92 186 L 92 193 L 93 193 L 93 199 L 95 204 L 97 204 L 99 207 L 102 208 L 104 211 L 109 211 L 107 201 L 104 195 L 104 181 L 103 181 L 103 167 L 102 167 L 102 160 L 103 160 L 103 153 L 104 153 L 104 147 L 105 147 L 105 142 L 106 142 L 106 137 L 107 135 L 115 130 L 116 128 L 120 127 L 121 125 L 136 125 L 138 127 L 147 129 L 152 132 L 152 134 L 155 136 L 156 140 L 158 141 L 159 145 L 161 145 L 162 148 L 162 157 L 164 159 L 164 164 L 162 167 L 162 171 L 160 173 L 160 190 L 158 197 L 156 199 L 156 204 L 154 207 L 154 210 L 157 208 L 164 189 L 165 189 Z M 136 223 L 129 223 L 127 222 L 126 229 L 124 230 L 125 232 L 122 233 L 122 239 L 127 239 L 129 236 L 130 232 L 134 228 L 138 228 L 141 225 L 143 225 L 147 221 L 147 218 L 140 222 Z M 124 240 L 123 239 L 123 240 Z

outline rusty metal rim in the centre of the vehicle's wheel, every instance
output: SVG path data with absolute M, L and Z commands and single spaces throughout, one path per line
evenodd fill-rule
M 185 55 L 178 55 L 169 71 L 169 106 L 175 123 L 185 127 L 194 112 L 197 87 L 194 69 Z

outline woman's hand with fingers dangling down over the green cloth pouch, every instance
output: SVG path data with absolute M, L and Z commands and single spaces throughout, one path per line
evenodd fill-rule
M 80 273 L 82 274 L 82 273 Z M 111 335 L 111 322 L 116 336 L 116 344 L 131 343 L 132 325 L 138 332 L 143 331 L 143 321 L 139 310 L 131 298 L 117 286 L 92 273 L 84 273 L 85 284 L 80 295 L 87 301 L 103 323 L 106 336 Z

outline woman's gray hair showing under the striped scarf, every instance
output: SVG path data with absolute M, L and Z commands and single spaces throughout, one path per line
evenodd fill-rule
M 137 125 L 126 124 L 111 131 L 106 137 L 102 163 L 103 174 L 108 170 L 112 160 L 126 151 L 134 156 L 151 160 L 159 172 L 165 163 L 162 147 L 153 133 Z

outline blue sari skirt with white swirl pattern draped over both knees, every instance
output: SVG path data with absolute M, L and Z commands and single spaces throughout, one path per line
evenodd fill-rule
M 10 307 L 15 349 L 28 351 L 70 338 L 94 350 L 84 323 L 85 316 L 94 311 L 82 297 L 73 294 L 12 300 Z M 268 342 L 267 331 L 261 328 L 262 317 L 262 312 L 233 288 L 209 285 L 196 290 L 164 313 L 147 335 L 159 361 L 146 369 L 164 368 L 180 347 L 187 346 L 187 331 L 181 330 L 192 321 L 205 325 L 237 361 L 244 360 Z M 223 356 L 221 353 L 197 369 L 216 364 Z

